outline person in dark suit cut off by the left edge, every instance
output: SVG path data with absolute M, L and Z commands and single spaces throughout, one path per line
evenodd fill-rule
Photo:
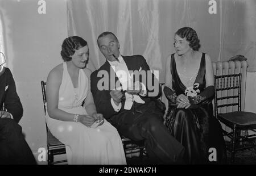
M 23 108 L 9 68 L 0 66 L 0 164 L 36 164 L 22 135 Z

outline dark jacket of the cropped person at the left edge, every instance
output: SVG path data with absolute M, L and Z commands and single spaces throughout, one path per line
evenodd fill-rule
M 7 112 L 13 115 L 14 120 L 19 123 L 23 115 L 23 108 L 19 96 L 16 92 L 16 86 L 13 74 L 9 68 L 5 68 L 5 72 L 0 76 L 0 107 L 3 103 Z

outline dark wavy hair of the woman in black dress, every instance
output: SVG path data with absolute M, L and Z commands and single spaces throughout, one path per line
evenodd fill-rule
M 180 28 L 175 34 L 181 38 L 185 38 L 189 42 L 189 47 L 191 47 L 194 51 L 198 51 L 201 47 L 197 33 L 191 27 Z

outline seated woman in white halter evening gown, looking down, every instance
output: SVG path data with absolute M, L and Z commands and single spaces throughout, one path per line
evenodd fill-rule
M 97 114 L 86 66 L 89 50 L 79 36 L 63 41 L 63 64 L 48 74 L 46 122 L 66 145 L 68 164 L 126 164 L 121 138 L 102 114 Z M 82 106 L 84 102 L 84 106 Z M 102 122 L 91 128 L 96 120 Z

